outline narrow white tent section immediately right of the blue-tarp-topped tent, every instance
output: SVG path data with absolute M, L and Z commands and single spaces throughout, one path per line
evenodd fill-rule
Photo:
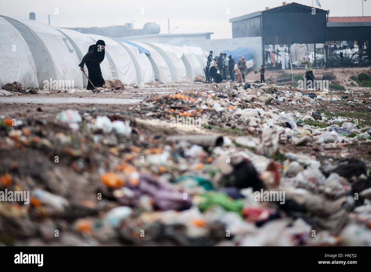
M 136 41 L 135 43 L 147 49 L 151 53 L 151 55 L 147 55 L 147 57 L 152 65 L 155 79 L 165 84 L 170 83 L 172 81 L 170 69 L 161 54 L 148 44 L 139 41 Z

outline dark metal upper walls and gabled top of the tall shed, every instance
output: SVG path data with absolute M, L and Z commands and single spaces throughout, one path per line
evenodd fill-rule
M 323 43 L 329 11 L 289 3 L 230 19 L 232 37 L 263 37 L 265 44 Z

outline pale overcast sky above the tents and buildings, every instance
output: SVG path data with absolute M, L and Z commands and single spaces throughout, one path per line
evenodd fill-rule
M 319 0 L 329 16 L 362 16 L 363 0 Z M 56 27 L 115 26 L 134 21 L 134 28 L 147 22 L 161 26 L 168 33 L 168 18 L 172 33 L 214 32 L 212 39 L 232 38 L 229 19 L 265 7 L 282 5 L 282 0 L 0 0 L 0 14 L 14 19 L 36 20 Z M 287 1 L 291 3 L 291 1 Z M 319 8 L 315 0 L 295 0 L 296 3 Z M 371 16 L 371 0 L 363 1 L 364 16 Z M 58 13 L 56 14 L 56 9 Z M 178 27 L 175 29 L 175 27 Z M 174 30 L 175 29 L 175 30 Z

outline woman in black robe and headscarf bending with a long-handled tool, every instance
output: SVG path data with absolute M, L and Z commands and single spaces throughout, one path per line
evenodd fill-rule
M 82 58 L 81 63 L 79 64 L 81 71 L 84 71 L 84 64 L 88 67 L 88 77 L 93 83 L 94 87 L 102 87 L 105 83 L 101 66 L 99 65 L 104 60 L 105 54 L 105 42 L 103 40 L 98 40 L 96 44 L 89 46 L 88 53 Z M 86 90 L 93 90 L 94 87 L 88 80 L 88 86 Z

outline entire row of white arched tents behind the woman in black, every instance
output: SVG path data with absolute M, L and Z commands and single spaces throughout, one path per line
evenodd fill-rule
M 121 80 L 124 85 L 194 81 L 197 75 L 204 76 L 208 56 L 200 47 L 133 43 L 35 20 L 0 16 L 0 27 L 0 88 L 14 81 L 26 88 L 43 88 L 50 79 L 71 80 L 75 88 L 85 88 L 88 80 L 78 65 L 97 40 L 106 44 L 103 78 Z

